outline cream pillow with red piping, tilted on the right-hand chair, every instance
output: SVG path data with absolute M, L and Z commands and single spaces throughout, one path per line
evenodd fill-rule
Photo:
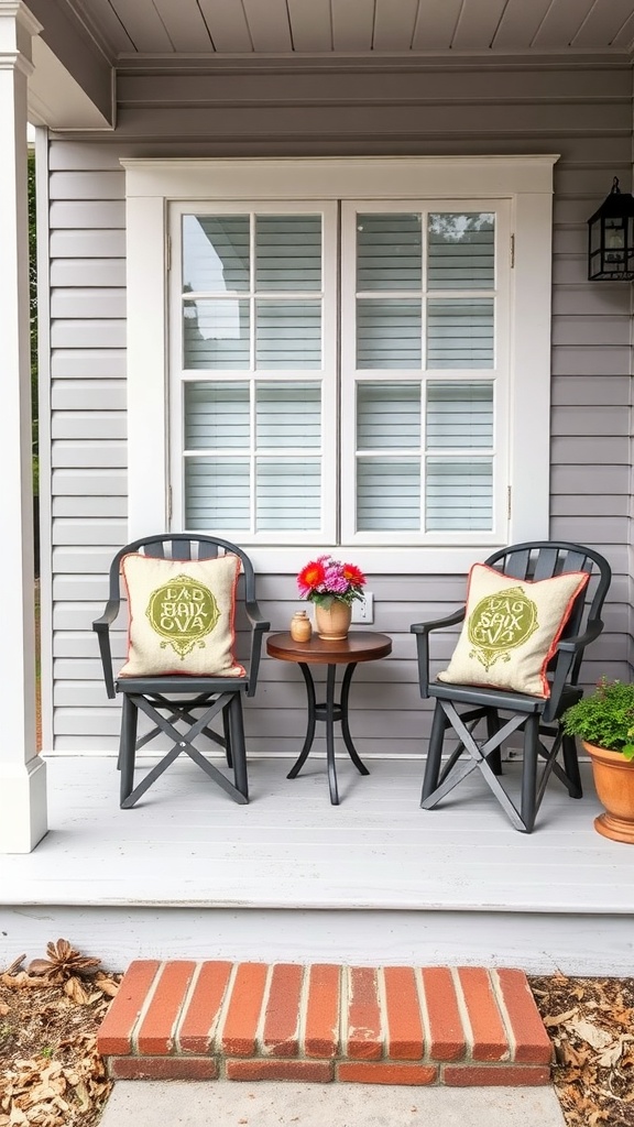
M 571 571 L 531 583 L 475 564 L 463 631 L 439 681 L 549 696 L 546 668 L 589 578 Z

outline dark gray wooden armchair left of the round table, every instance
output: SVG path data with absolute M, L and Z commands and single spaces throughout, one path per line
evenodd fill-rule
M 129 552 L 140 552 L 157 559 L 214 559 L 232 552 L 241 561 L 239 586 L 244 611 L 250 623 L 250 651 L 246 676 L 146 676 L 120 677 L 113 675 L 109 628 L 115 622 L 121 607 L 121 560 Z M 129 809 L 167 770 L 178 755 L 186 753 L 223 791 L 236 802 L 248 802 L 248 781 L 245 736 L 243 725 L 243 696 L 253 696 L 257 685 L 257 673 L 262 649 L 262 637 L 270 630 L 255 597 L 255 575 L 252 562 L 240 548 L 218 536 L 166 533 L 143 536 L 125 544 L 114 557 L 109 571 L 109 594 L 104 613 L 93 623 L 99 640 L 99 651 L 104 667 L 104 680 L 108 698 L 122 694 L 122 722 L 118 767 L 121 771 L 121 806 Z M 153 725 L 150 731 L 138 738 L 139 712 L 148 716 Z M 196 716 L 196 713 L 200 713 Z M 214 717 L 221 716 L 222 734 L 210 727 Z M 183 733 L 177 725 L 184 726 Z M 134 787 L 135 753 L 159 734 L 166 734 L 171 748 Z M 206 755 L 194 746 L 200 736 L 206 737 L 215 746 L 223 748 L 227 764 L 234 771 L 234 782 L 227 778 Z

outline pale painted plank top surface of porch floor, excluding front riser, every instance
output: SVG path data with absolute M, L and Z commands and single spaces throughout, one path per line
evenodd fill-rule
M 632 852 L 593 831 L 589 774 L 581 801 L 552 781 L 527 835 L 477 772 L 424 811 L 414 761 L 366 778 L 338 761 L 338 807 L 324 761 L 292 781 L 290 764 L 252 761 L 240 807 L 182 758 L 120 810 L 113 758 L 50 757 L 50 832 L 2 859 L 0 903 L 634 913 Z

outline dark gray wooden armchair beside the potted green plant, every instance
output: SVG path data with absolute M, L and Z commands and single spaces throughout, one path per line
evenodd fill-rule
M 581 663 L 585 647 L 604 628 L 600 614 L 611 571 L 607 560 L 591 548 L 565 541 L 513 544 L 494 552 L 485 564 L 514 579 L 547 579 L 570 571 L 593 576 L 576 597 L 549 663 L 551 695 L 546 699 L 430 680 L 430 633 L 457 625 L 465 618 L 465 607 L 447 618 L 411 627 L 416 636 L 421 696 L 435 699 L 421 806 L 432 809 L 472 771 L 479 770 L 516 829 L 531 833 L 551 774 L 564 783 L 571 798 L 582 797 L 575 740 L 564 735 L 560 718 L 583 694 L 578 686 Z M 501 713 L 509 712 L 510 718 L 503 719 Z M 484 734 L 476 738 L 479 725 L 484 726 Z M 455 733 L 458 743 L 443 764 L 448 730 Z M 518 730 L 523 734 L 519 809 L 500 781 L 501 751 Z M 557 762 L 560 752 L 563 764 Z M 544 764 L 539 775 L 540 760 Z

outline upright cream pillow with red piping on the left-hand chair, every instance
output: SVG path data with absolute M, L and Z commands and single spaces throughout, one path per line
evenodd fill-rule
M 121 570 L 130 627 L 120 677 L 245 675 L 232 654 L 237 556 L 164 560 L 131 552 Z

